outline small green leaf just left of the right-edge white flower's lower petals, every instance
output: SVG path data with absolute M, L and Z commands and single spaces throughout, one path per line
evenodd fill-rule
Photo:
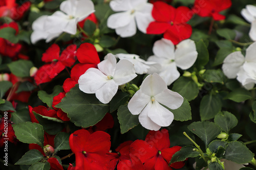
M 208 83 L 221 83 L 224 84 L 225 75 L 220 69 L 208 69 L 203 74 L 204 81 Z

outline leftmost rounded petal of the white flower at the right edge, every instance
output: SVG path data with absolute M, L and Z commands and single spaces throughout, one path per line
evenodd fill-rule
M 237 77 L 240 67 L 244 63 L 244 56 L 241 52 L 233 52 L 229 54 L 223 61 L 222 70 L 229 79 Z

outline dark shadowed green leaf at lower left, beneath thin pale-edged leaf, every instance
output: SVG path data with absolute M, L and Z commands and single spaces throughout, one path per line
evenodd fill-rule
M 44 127 L 44 130 L 50 135 L 56 135 L 57 133 L 62 131 L 63 128 L 65 128 L 64 124 L 50 120 L 52 117 L 42 116 L 34 111 L 33 113 L 35 115 L 35 118 L 38 120 L 39 124 L 42 125 L 42 127 Z

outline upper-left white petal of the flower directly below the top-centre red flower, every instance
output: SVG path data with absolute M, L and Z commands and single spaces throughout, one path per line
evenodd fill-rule
M 162 38 L 154 43 L 153 53 L 157 57 L 174 59 L 174 44 L 172 41 Z

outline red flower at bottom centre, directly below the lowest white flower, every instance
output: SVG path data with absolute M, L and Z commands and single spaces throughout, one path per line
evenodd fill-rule
M 181 149 L 179 146 L 170 147 L 168 130 L 150 131 L 145 141 L 135 140 L 130 145 L 130 153 L 138 156 L 147 170 L 181 168 L 184 162 L 176 162 L 168 166 L 173 155 Z

